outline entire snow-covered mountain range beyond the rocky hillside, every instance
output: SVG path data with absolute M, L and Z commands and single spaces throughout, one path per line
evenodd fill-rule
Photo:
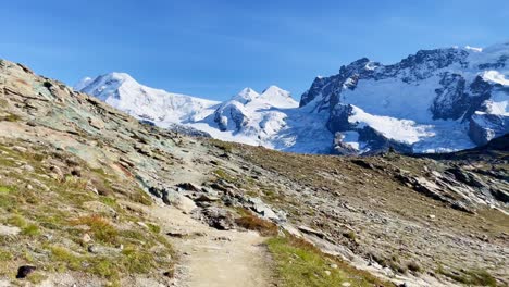
M 509 42 L 421 50 L 392 65 L 363 58 L 316 77 L 300 102 L 276 86 L 210 101 L 124 73 L 85 78 L 75 89 L 158 126 L 284 151 L 454 151 L 509 133 Z

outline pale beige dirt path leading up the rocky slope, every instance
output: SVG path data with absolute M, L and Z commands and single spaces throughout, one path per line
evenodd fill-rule
M 148 212 L 164 233 L 176 235 L 172 239 L 181 255 L 176 286 L 271 286 L 264 238 L 257 233 L 216 230 L 170 207 L 153 207 Z

